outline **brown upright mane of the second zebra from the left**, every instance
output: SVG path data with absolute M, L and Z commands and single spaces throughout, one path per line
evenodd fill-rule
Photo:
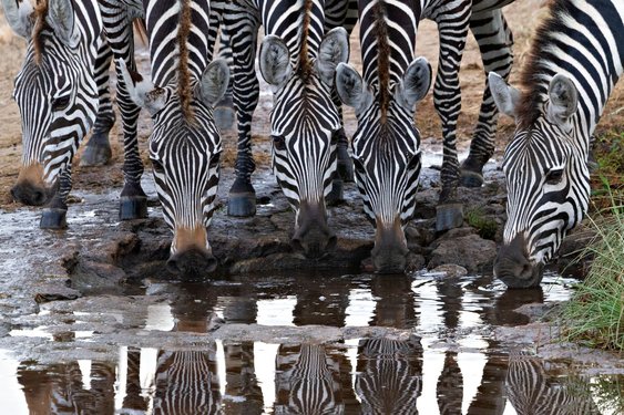
M 191 0 L 180 0 L 180 29 L 177 30 L 178 62 L 177 62 L 177 96 L 182 106 L 182 113 L 186 120 L 192 120 L 191 108 L 191 72 L 188 70 L 188 34 L 191 33 Z

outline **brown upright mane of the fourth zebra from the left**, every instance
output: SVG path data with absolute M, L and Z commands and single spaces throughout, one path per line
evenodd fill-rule
M 386 23 L 386 4 L 383 0 L 377 1 L 372 9 L 375 21 L 375 37 L 377 40 L 377 76 L 379 77 L 379 108 L 381 110 L 381 124 L 386 124 L 390 95 L 390 45 L 388 44 L 388 24 Z

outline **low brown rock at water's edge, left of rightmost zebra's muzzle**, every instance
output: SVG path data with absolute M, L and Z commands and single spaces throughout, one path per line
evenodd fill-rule
M 497 256 L 495 242 L 482 239 L 478 235 L 457 238 L 444 236 L 434 243 L 436 248 L 427 264 L 429 269 L 446 263 L 454 263 L 464 267 L 468 272 L 472 273 L 492 267 Z

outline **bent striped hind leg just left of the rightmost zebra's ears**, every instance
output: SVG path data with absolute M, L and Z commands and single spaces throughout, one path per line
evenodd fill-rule
M 505 81 L 513 63 L 513 37 L 501 9 L 473 13 L 470 19 L 470 30 L 474 34 L 485 74 L 497 72 Z M 470 144 L 470 154 L 461 165 L 460 185 L 481 187 L 483 184 L 483 166 L 494 154 L 494 137 L 497 114 L 499 113 L 494 98 L 490 92 L 488 76 L 483 102 L 479 112 L 479 122 Z

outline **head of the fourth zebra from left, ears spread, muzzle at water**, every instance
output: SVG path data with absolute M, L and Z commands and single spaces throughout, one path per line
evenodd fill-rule
M 364 209 L 376 227 L 372 261 L 378 272 L 402 272 L 408 253 L 403 227 L 413 216 L 420 174 L 420 133 L 413 124 L 416 103 L 431 84 L 427 59 L 416 59 L 400 82 L 390 85 L 388 101 L 377 100 L 376 85 L 367 85 L 347 64 L 338 65 L 340 100 L 356 110 L 354 135 L 356 181 Z

